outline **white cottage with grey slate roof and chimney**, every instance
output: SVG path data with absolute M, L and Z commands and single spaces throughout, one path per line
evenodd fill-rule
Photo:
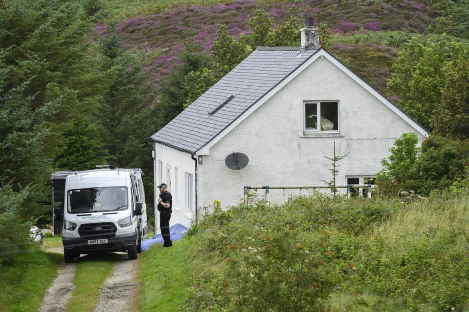
M 300 47 L 258 47 L 150 138 L 155 185 L 168 184 L 173 195 L 171 224 L 189 225 L 215 199 L 236 205 L 244 185 L 324 184 L 334 142 L 347 155 L 338 184 L 362 184 L 396 138 L 428 135 L 321 48 L 319 31 L 301 29 Z M 233 152 L 249 157 L 245 168 L 225 165 Z M 283 200 L 279 193 L 271 201 Z

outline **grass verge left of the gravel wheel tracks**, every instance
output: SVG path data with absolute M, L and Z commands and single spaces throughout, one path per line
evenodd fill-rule
M 0 267 L 0 307 L 3 312 L 37 311 L 57 276 L 59 254 L 31 251 Z

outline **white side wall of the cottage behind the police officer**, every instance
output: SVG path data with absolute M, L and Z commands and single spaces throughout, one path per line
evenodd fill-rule
M 195 161 L 191 158 L 191 154 L 184 153 L 173 149 L 171 147 L 154 143 L 155 144 L 155 163 L 156 163 L 156 175 L 155 175 L 155 185 L 159 185 L 159 165 L 158 160 L 163 162 L 163 183 L 168 185 L 168 191 L 172 195 L 172 215 L 170 220 L 170 226 L 181 223 L 187 227 L 191 224 L 193 212 L 189 211 L 185 195 L 186 195 L 186 186 L 185 186 L 185 172 L 192 174 L 192 202 L 194 203 L 195 210 Z M 177 168 L 177 188 L 176 188 L 176 176 L 175 168 Z M 168 170 L 170 172 L 170 180 L 168 180 Z M 156 196 L 159 195 L 158 189 L 156 190 Z M 155 198 L 157 202 L 157 197 Z M 159 213 L 156 212 L 157 218 L 157 232 L 160 232 L 160 220 Z

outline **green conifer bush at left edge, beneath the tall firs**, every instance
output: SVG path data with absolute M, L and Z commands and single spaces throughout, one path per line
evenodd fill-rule
M 30 245 L 31 221 L 25 216 L 29 194 L 29 187 L 14 192 L 10 183 L 0 188 L 0 267 L 13 254 Z

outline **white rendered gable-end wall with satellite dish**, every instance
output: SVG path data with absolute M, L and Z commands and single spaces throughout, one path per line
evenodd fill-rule
M 303 136 L 305 100 L 339 101 L 341 137 Z M 331 179 L 331 161 L 324 156 L 332 157 L 334 141 L 336 153 L 347 155 L 339 163 L 338 184 L 346 184 L 346 176 L 375 175 L 405 132 L 415 129 L 329 60 L 319 58 L 203 156 L 198 165 L 199 207 L 214 199 L 224 208 L 236 205 L 244 185 L 323 185 L 322 180 Z M 228 169 L 224 161 L 232 152 L 246 154 L 248 166 Z M 285 199 L 288 193 L 292 191 L 285 192 Z M 284 199 L 281 190 L 271 190 L 270 196 L 275 202 Z

